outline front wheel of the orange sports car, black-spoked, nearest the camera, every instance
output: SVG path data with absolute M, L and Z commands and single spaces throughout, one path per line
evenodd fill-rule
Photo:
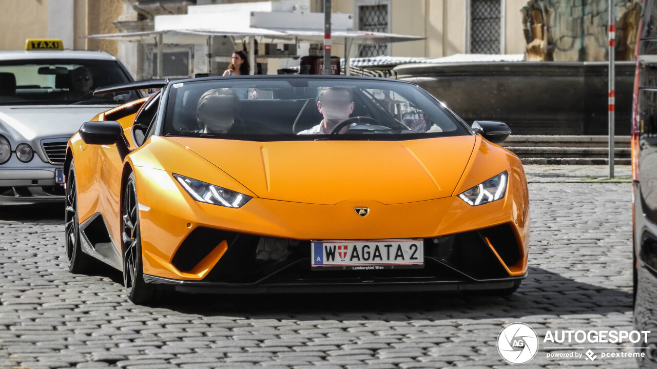
M 156 288 L 144 281 L 135 173 L 125 183 L 121 215 L 125 295 L 135 304 L 147 305 L 156 300 Z

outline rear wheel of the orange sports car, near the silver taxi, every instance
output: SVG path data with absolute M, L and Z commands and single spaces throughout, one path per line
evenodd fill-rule
M 68 266 L 68 271 L 75 274 L 86 274 L 92 269 L 96 261 L 93 257 L 82 251 L 80 244 L 78 186 L 76 185 L 76 169 L 72 161 L 66 175 L 64 225 L 66 265 Z

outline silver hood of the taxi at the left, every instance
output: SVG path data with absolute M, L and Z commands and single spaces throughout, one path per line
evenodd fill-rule
M 38 146 L 40 139 L 68 139 L 82 123 L 109 108 L 107 105 L 0 106 L 0 134 L 9 139 L 12 148 L 20 142 Z

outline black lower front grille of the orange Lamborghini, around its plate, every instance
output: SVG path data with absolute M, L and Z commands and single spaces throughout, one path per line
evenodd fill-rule
M 260 248 L 261 238 L 196 227 L 179 246 L 172 263 L 179 271 L 190 272 L 221 240 L 227 242 L 228 248 L 205 276 L 205 282 L 294 284 L 370 280 L 376 283 L 396 282 L 400 278 L 423 282 L 508 278 L 509 273 L 486 238 L 508 265 L 515 265 L 520 259 L 520 248 L 510 225 L 424 238 L 424 268 L 384 271 L 312 271 L 310 241 L 277 238 L 286 245 L 286 250 L 275 255 Z

